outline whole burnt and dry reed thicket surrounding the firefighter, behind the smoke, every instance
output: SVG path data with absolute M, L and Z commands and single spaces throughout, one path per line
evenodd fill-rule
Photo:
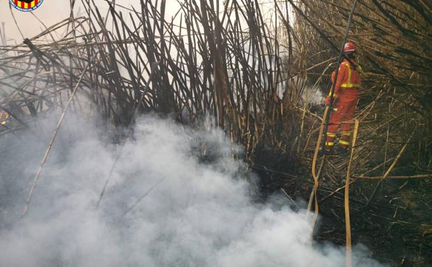
M 0 34 L 0 137 L 69 109 L 130 126 L 135 111 L 182 123 L 213 117 L 266 193 L 308 199 L 322 107 L 352 1 L 83 0 L 81 14 L 10 45 Z M 74 0 L 71 7 L 78 5 Z M 263 6 L 266 6 L 264 8 Z M 294 12 L 292 12 L 294 10 Z M 363 67 L 351 160 L 354 243 L 395 266 L 432 261 L 432 4 L 359 1 L 349 31 Z M 320 166 L 316 239 L 344 243 L 347 157 Z

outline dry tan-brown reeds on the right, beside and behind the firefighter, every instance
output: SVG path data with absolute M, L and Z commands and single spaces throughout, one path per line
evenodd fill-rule
M 300 9 L 295 26 L 308 33 L 308 67 L 317 66 L 310 74 L 315 79 L 328 80 L 334 69 L 319 64 L 337 54 L 353 2 L 295 3 Z M 431 19 L 428 1 L 358 1 L 348 35 L 364 70 L 351 166 L 354 232 L 376 236 L 380 241 L 371 243 L 399 266 L 431 260 Z M 331 209 L 343 205 L 337 194 L 346 166 L 346 159 L 333 157 L 322 169 L 330 189 L 320 193 L 323 212 L 336 217 L 343 217 L 342 208 L 338 215 Z M 376 233 L 374 224 L 385 231 Z M 338 236 L 335 232 L 331 236 Z

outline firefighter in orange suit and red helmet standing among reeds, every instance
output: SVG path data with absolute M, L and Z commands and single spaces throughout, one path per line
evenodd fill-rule
M 333 148 L 337 132 L 341 128 L 342 133 L 338 142 L 338 154 L 348 153 L 353 117 L 358 102 L 358 88 L 360 87 L 360 66 L 356 63 L 356 46 L 352 42 L 344 45 L 345 58 L 339 67 L 338 78 L 333 92 L 333 110 L 331 111 L 329 126 L 327 128 L 326 144 L 322 154 L 333 154 Z M 350 63 L 351 62 L 351 63 Z M 331 75 L 332 83 L 335 83 L 335 71 Z M 331 94 L 331 92 L 330 92 Z M 330 104 L 330 94 L 326 98 L 326 104 Z

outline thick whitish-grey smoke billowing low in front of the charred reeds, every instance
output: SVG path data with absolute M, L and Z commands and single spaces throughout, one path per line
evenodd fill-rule
M 55 123 L 0 139 L 1 266 L 344 266 L 343 248 L 310 246 L 304 212 L 251 202 L 222 132 L 154 117 L 138 120 L 96 209 L 120 145 L 68 115 L 19 219 Z M 199 159 L 197 140 L 211 161 Z M 358 246 L 354 262 L 381 266 Z

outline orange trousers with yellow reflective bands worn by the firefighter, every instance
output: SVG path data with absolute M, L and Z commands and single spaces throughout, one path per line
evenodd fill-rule
M 344 94 L 335 99 L 333 110 L 330 114 L 329 127 L 327 128 L 326 149 L 331 150 L 335 145 L 338 129 L 341 128 L 339 146 L 348 148 L 351 141 L 354 112 L 358 101 L 357 89 L 345 89 Z

